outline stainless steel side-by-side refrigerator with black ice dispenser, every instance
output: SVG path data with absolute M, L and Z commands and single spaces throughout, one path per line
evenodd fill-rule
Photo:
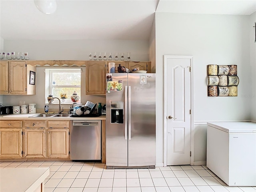
M 112 73 L 106 80 L 107 168 L 155 168 L 155 74 Z

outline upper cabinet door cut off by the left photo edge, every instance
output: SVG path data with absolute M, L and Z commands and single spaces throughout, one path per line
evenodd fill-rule
M 8 61 L 0 61 L 0 94 L 8 94 Z

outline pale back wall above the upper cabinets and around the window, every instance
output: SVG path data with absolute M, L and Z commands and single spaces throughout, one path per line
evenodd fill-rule
M 30 60 L 88 60 L 90 52 L 131 52 L 131 60 L 148 61 L 148 41 L 145 40 L 4 40 L 4 50 L 28 52 Z M 36 72 L 36 95 L 16 96 L 4 95 L 0 99 L 5 105 L 19 105 L 19 101 L 36 103 L 37 109 L 44 108 L 44 68 L 38 67 Z M 88 96 L 83 94 L 81 101 L 106 103 L 106 96 Z M 64 109 L 70 105 L 62 104 Z M 57 109 L 58 106 L 51 105 Z

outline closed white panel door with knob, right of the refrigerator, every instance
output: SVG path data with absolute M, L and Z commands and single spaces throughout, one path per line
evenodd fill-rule
M 167 165 L 190 164 L 192 56 L 164 56 Z

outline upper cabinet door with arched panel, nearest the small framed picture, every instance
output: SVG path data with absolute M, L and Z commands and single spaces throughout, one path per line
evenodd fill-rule
M 10 94 L 26 94 L 26 61 L 9 61 Z

